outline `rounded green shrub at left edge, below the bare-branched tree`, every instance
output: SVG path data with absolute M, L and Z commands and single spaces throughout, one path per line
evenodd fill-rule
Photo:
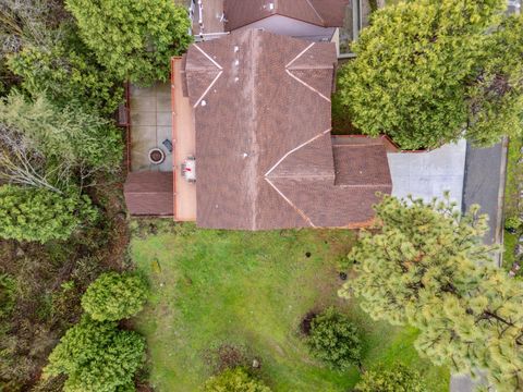
M 16 241 L 68 240 L 96 209 L 87 196 L 60 195 L 47 189 L 0 186 L 0 238 Z

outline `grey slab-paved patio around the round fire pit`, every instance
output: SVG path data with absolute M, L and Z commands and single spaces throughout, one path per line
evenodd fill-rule
M 131 171 L 172 171 L 172 154 L 162 145 L 172 142 L 171 88 L 169 83 L 153 87 L 131 86 Z M 148 151 L 166 154 L 161 164 L 151 164 Z

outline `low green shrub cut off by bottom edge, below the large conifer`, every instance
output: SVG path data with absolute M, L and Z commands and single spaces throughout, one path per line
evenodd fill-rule
M 354 388 L 355 392 L 425 392 L 419 373 L 403 365 L 391 369 L 366 371 Z

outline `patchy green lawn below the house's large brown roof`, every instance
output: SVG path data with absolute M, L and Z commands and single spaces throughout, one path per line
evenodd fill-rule
M 362 326 L 366 368 L 400 360 L 418 368 L 430 391 L 448 391 L 448 371 L 416 355 L 415 330 L 372 321 L 337 297 L 338 266 L 352 232 L 244 233 L 192 224 L 148 231 L 155 234 L 135 233 L 131 253 L 153 285 L 153 299 L 135 324 L 148 341 L 156 391 L 197 391 L 212 371 L 209 351 L 223 343 L 248 347 L 260 358 L 260 376 L 273 391 L 346 391 L 357 381 L 356 369 L 325 368 L 300 336 L 302 317 L 329 305 Z

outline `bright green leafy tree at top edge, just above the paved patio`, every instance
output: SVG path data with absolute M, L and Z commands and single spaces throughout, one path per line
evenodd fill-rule
M 121 81 L 169 76 L 170 59 L 191 41 L 187 11 L 172 0 L 66 0 L 85 44 Z

